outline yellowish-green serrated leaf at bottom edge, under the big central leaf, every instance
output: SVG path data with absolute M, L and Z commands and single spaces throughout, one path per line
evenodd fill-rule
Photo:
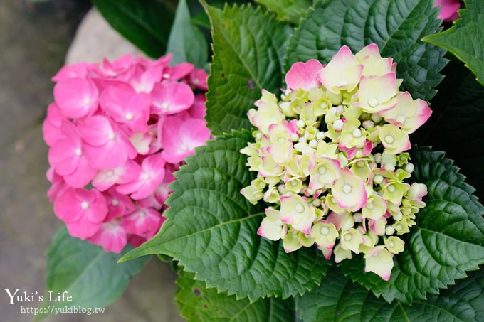
M 175 301 L 181 316 L 187 321 L 294 321 L 294 299 L 248 299 L 206 289 L 203 281 L 194 280 L 194 274 L 179 270 L 179 290 Z

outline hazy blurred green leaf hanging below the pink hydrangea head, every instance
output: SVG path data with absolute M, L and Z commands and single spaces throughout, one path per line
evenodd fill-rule
M 71 237 L 61 228 L 53 238 L 47 250 L 46 292 L 53 297 L 58 293 L 72 296 L 69 305 L 82 308 L 102 308 L 121 296 L 131 277 L 140 272 L 149 257 L 136 259 L 133 262 L 117 264 L 117 260 L 132 247 L 125 247 L 121 254 L 105 252 L 85 240 Z M 49 302 L 48 294 L 44 297 L 42 307 L 64 307 L 66 302 Z M 52 313 L 52 311 L 48 310 Z M 39 316 L 48 316 L 49 313 Z

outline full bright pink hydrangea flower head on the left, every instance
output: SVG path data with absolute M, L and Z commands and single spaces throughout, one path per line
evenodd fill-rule
M 124 55 L 66 65 L 53 77 L 43 122 L 48 197 L 70 235 L 107 252 L 158 232 L 172 173 L 210 138 L 207 74 L 169 66 L 171 58 Z

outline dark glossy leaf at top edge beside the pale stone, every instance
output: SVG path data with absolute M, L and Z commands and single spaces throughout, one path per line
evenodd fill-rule
M 167 50 L 174 7 L 158 0 L 92 0 L 108 23 L 147 55 Z

